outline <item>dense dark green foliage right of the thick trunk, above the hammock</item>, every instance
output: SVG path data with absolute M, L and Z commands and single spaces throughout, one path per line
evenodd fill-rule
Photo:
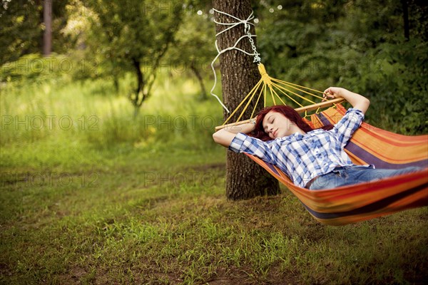
M 427 6 L 409 1 L 407 40 L 399 1 L 300 0 L 282 9 L 275 2 L 258 6 L 267 72 L 318 90 L 340 85 L 362 93 L 372 101 L 374 125 L 427 133 Z

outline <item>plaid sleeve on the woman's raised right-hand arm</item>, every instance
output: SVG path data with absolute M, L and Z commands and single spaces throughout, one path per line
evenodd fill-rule
M 360 128 L 362 120 L 364 113 L 361 110 L 349 108 L 343 118 L 330 130 L 339 140 L 341 147 L 345 147 L 355 130 Z

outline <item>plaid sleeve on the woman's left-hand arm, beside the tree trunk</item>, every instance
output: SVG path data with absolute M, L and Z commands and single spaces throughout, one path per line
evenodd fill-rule
M 250 137 L 244 133 L 238 133 L 230 142 L 229 150 L 234 152 L 245 152 L 250 155 L 255 155 L 261 160 L 269 163 L 274 163 L 272 150 L 270 145 L 258 138 Z

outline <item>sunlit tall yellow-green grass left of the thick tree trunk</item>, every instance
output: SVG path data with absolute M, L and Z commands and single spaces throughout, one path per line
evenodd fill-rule
M 129 76 L 118 93 L 106 80 L 9 84 L 0 97 L 1 165 L 85 165 L 100 157 L 83 152 L 111 147 L 150 152 L 212 148 L 220 106 L 198 100 L 195 82 L 160 76 L 137 116 L 126 96 L 133 86 Z

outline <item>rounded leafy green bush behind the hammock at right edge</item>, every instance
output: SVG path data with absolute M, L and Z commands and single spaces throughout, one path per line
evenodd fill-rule
M 367 53 L 365 68 L 344 71 L 338 82 L 371 100 L 370 120 L 399 133 L 428 133 L 428 42 L 382 43 Z

